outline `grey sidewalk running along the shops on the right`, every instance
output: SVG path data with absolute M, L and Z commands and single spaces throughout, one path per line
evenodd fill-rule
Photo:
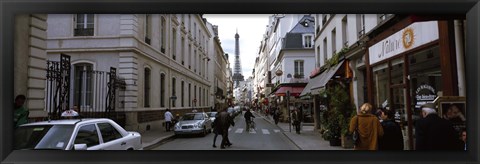
M 262 115 L 261 117 L 275 125 L 272 116 L 266 118 Z M 320 133 L 314 131 L 313 125 L 304 125 L 300 130 L 300 134 L 295 132 L 293 126 L 291 127 L 290 132 L 290 126 L 288 123 L 278 122 L 277 126 L 283 130 L 283 134 L 295 143 L 300 150 L 353 150 L 341 146 L 330 146 L 329 141 L 325 141 Z

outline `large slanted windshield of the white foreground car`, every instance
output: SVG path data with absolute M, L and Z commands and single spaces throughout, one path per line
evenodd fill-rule
M 65 150 L 73 125 L 21 126 L 15 130 L 15 149 Z

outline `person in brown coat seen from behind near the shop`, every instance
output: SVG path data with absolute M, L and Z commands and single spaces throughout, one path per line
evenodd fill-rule
M 377 116 L 372 114 L 372 105 L 365 103 L 360 113 L 350 120 L 349 132 L 358 129 L 358 142 L 355 150 L 378 150 L 378 138 L 383 136 L 383 128 Z

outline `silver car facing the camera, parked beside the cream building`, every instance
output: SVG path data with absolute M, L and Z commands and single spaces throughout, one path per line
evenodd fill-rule
M 175 124 L 175 135 L 201 134 L 206 136 L 212 132 L 212 121 L 205 112 L 186 113 Z

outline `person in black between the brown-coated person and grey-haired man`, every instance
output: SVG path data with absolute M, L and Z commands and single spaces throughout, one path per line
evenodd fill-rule
M 383 120 L 383 136 L 378 139 L 378 150 L 403 150 L 403 134 L 400 126 L 395 122 L 395 113 L 392 110 L 380 109 L 378 117 Z

